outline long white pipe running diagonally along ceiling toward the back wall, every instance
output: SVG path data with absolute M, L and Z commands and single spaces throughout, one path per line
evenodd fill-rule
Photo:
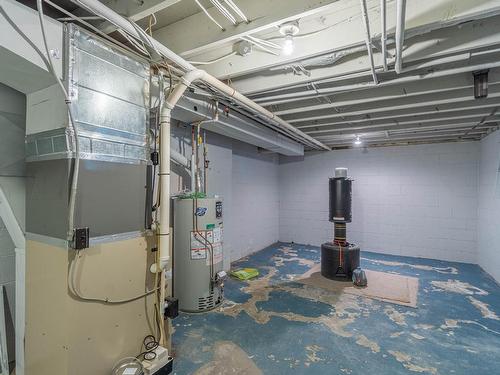
M 156 39 L 148 35 L 145 35 L 145 33 L 144 34 L 140 33 L 126 18 L 120 16 L 118 13 L 108 8 L 106 5 L 102 4 L 98 0 L 72 0 L 72 1 L 82 6 L 83 8 L 89 10 L 90 12 L 105 18 L 115 26 L 119 27 L 120 29 L 126 31 L 127 33 L 138 39 L 142 40 L 144 38 L 147 38 L 155 50 L 158 50 L 167 59 L 174 62 L 182 70 L 188 72 L 187 74 L 196 76 L 196 79 L 191 80 L 190 84 L 197 80 L 205 82 L 206 84 L 215 88 L 217 91 L 221 92 L 225 96 L 233 98 L 235 101 L 239 102 L 244 107 L 250 109 L 255 114 L 263 117 L 264 120 L 266 120 L 267 122 L 286 131 L 287 133 L 292 135 L 295 138 L 295 140 L 300 140 L 301 142 L 312 144 L 314 145 L 315 148 L 318 149 L 323 149 L 323 150 L 330 149 L 328 146 L 312 138 L 311 136 L 303 133 L 302 131 L 296 129 L 283 119 L 276 116 L 274 113 L 269 112 L 267 109 L 263 108 L 262 106 L 255 103 L 251 99 L 248 99 L 244 95 L 237 92 L 235 89 L 222 83 L 221 81 L 211 76 L 207 72 L 198 70 L 194 65 L 190 64 L 182 57 L 172 52 L 170 49 L 168 49 L 166 46 L 158 42 Z M 187 82 L 186 77 L 184 77 L 184 81 Z

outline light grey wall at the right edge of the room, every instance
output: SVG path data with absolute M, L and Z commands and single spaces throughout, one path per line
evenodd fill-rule
M 500 283 L 500 131 L 481 141 L 478 258 Z

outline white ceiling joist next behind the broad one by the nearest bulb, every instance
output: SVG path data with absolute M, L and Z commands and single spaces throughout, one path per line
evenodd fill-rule
M 481 61 L 480 52 L 490 50 L 492 46 L 500 45 L 500 16 L 492 17 L 482 21 L 470 22 L 461 26 L 453 26 L 446 29 L 436 30 L 424 36 L 414 37 L 406 40 L 405 48 L 405 74 L 411 71 L 430 70 L 432 65 L 438 65 L 442 59 L 455 64 L 463 62 L 464 66 L 474 65 L 473 61 Z M 331 53 L 341 54 L 343 51 Z M 321 84 L 336 82 L 352 76 L 363 77 L 370 81 L 369 61 L 366 52 L 351 54 L 349 50 L 344 51 L 345 57 L 332 64 L 311 67 L 310 76 L 298 75 L 290 69 L 263 71 L 258 74 L 250 74 L 238 79 L 233 79 L 233 86 L 251 93 L 252 97 L 262 101 L 260 97 L 268 97 L 266 101 L 278 101 L 281 95 L 303 92 L 311 82 Z M 470 55 L 468 55 L 470 53 Z M 478 55 L 475 58 L 475 54 Z M 325 61 L 330 55 L 325 55 Z M 452 58 L 452 56 L 454 56 Z M 383 61 L 380 54 L 375 54 L 377 71 L 382 71 Z M 425 59 L 431 59 L 425 61 Z M 421 61 L 425 63 L 422 64 Z M 389 59 L 392 64 L 393 59 Z M 308 69 L 307 65 L 305 65 Z M 385 73 L 387 75 L 387 73 Z M 398 76 L 394 76 L 398 78 Z M 418 79 L 418 77 L 416 77 Z M 370 82 L 370 84 L 372 84 Z M 374 86 L 374 85 L 373 85 Z M 270 91 L 266 93 L 266 91 Z

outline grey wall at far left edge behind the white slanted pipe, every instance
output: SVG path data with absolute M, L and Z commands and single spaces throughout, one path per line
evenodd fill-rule
M 25 213 L 25 96 L 0 84 L 0 186 L 24 229 Z M 0 219 L 0 285 L 5 286 L 9 314 L 9 359 L 14 358 L 15 248 Z

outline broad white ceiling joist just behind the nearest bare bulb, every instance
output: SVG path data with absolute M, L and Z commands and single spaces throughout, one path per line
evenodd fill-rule
M 388 30 L 389 37 L 394 32 L 395 26 L 395 4 L 388 3 Z M 262 69 L 268 69 L 293 61 L 303 61 L 327 52 L 338 51 L 347 48 L 363 46 L 365 33 L 361 22 L 358 0 L 339 1 L 332 5 L 331 12 L 323 14 L 321 19 L 307 19 L 301 22 L 301 30 L 304 34 L 322 30 L 332 26 L 325 32 L 314 34 L 313 37 L 297 36 L 295 38 L 295 49 L 292 57 L 275 56 L 264 52 L 255 52 L 242 58 L 232 56 L 216 64 L 211 64 L 206 69 L 218 78 L 235 79 L 245 74 L 255 73 Z M 373 34 L 380 35 L 379 2 L 368 1 L 368 12 L 370 23 L 373 24 Z M 447 0 L 409 2 L 407 5 L 407 30 L 408 38 L 415 35 L 427 34 L 437 28 L 449 27 L 457 23 L 468 22 L 482 18 L 491 17 L 500 13 L 498 1 L 486 0 L 476 3 L 471 7 L 471 1 L 460 0 L 450 3 Z M 307 21 L 307 22 L 306 22 Z M 271 34 L 269 36 L 276 36 Z M 376 38 L 377 39 L 377 38 Z M 224 51 L 222 53 L 226 53 Z M 219 51 L 219 53 L 221 53 Z M 380 55 L 380 54 L 378 54 Z M 213 56 L 204 55 L 211 59 Z M 379 56 L 380 57 L 380 56 Z M 405 51 L 404 61 L 407 53 Z M 197 60 L 200 56 L 196 57 Z M 381 66 L 380 58 L 377 65 Z M 364 66 L 367 69 L 369 65 Z

